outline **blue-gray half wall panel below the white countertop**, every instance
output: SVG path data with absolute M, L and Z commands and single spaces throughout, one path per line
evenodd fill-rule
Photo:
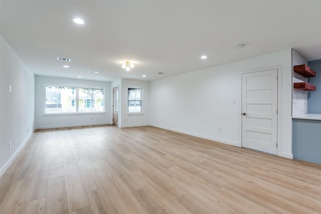
M 292 149 L 293 158 L 321 164 L 321 121 L 293 119 Z

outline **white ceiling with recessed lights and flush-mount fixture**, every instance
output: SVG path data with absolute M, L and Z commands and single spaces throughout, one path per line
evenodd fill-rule
M 287 48 L 321 59 L 321 1 L 1 1 L 0 7 L 1 35 L 36 75 L 154 80 Z M 121 68 L 125 61 L 135 64 L 129 72 Z

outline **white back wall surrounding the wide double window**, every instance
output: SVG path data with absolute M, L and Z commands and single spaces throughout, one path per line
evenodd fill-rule
M 105 113 L 45 115 L 46 85 L 104 88 Z M 36 76 L 35 126 L 37 129 L 111 124 L 110 82 Z

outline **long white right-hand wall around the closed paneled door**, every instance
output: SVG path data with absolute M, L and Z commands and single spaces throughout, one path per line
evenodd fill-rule
M 240 73 L 272 66 L 282 73 L 278 155 L 292 158 L 291 49 L 151 81 L 150 124 L 241 146 Z

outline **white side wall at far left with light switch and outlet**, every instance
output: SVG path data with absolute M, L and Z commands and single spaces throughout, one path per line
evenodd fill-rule
M 1 176 L 33 133 L 35 76 L 3 37 L 1 37 L 0 61 Z M 9 142 L 12 143 L 11 149 Z

